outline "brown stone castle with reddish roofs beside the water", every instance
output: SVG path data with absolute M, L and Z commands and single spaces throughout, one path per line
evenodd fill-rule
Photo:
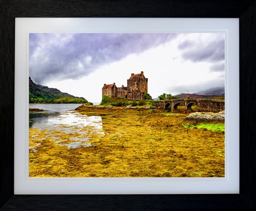
M 145 78 L 143 71 L 140 74 L 131 74 L 127 79 L 127 86 L 117 87 L 116 83 L 104 84 L 102 96 L 108 95 L 111 98 L 120 97 L 129 100 L 144 100 L 144 95 L 148 94 L 148 79 Z

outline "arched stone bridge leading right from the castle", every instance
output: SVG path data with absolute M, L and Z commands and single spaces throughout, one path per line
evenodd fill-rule
M 184 112 L 192 111 L 192 105 L 196 105 L 196 111 L 219 112 L 225 110 L 225 100 L 208 100 L 208 99 L 174 99 L 154 101 L 155 107 L 170 109 L 175 111 L 180 104 L 184 105 Z

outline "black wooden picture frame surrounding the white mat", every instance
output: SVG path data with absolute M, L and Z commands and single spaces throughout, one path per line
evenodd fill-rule
M 16 17 L 239 18 L 240 193 L 14 195 L 14 38 Z M 0 0 L 1 210 L 254 210 L 256 209 L 255 95 L 255 0 Z

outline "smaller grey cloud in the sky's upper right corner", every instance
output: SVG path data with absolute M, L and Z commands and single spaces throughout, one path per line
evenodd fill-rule
M 185 41 L 184 43 L 186 43 Z M 193 44 L 193 47 L 183 49 L 181 55 L 185 60 L 191 60 L 192 62 L 219 62 L 225 59 L 224 51 L 225 41 L 224 36 L 213 41 L 207 42 L 205 45 L 203 42 L 198 40 L 197 43 Z

